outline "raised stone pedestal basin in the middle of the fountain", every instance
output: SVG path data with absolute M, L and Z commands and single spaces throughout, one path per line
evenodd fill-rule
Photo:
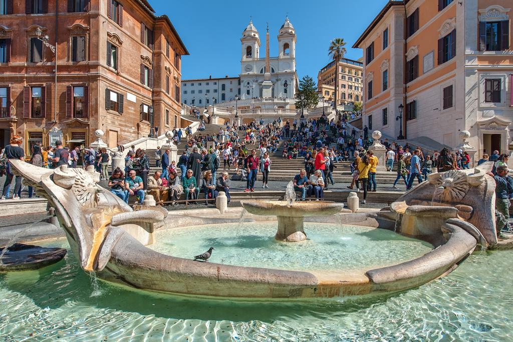
M 276 216 L 278 218 L 278 230 L 274 238 L 283 242 L 302 242 L 306 240 L 304 217 L 333 215 L 344 209 L 344 205 L 341 203 L 327 201 L 256 200 L 243 202 L 242 206 L 254 215 Z

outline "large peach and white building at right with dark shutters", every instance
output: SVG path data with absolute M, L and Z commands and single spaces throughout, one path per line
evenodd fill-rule
M 465 146 L 476 157 L 507 152 L 512 8 L 511 0 L 387 2 L 353 45 L 365 59 L 364 124 L 394 139 L 402 125 L 407 139 Z

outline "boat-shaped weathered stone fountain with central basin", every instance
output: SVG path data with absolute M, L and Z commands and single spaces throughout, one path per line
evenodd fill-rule
M 490 163 L 473 170 L 431 174 L 429 182 L 405 193 L 389 208 L 373 212 L 350 213 L 341 204 L 322 201 L 243 203 L 250 213 L 264 215 L 265 220 L 278 220 L 275 239 L 280 244 L 308 243 L 303 223 L 307 220 L 385 229 L 432 245 L 427 253 L 412 255 L 395 265 L 304 271 L 301 267 L 287 270 L 199 263 L 159 253 L 147 247 L 155 242 L 157 231 L 177 222 L 186 227 L 223 221 L 202 218 L 201 210 L 171 215 L 160 207 L 132 209 L 98 186 L 99 174 L 92 170 L 66 166 L 49 170 L 18 160 L 13 160 L 12 165 L 14 172 L 22 175 L 24 182 L 56 209 L 73 255 L 78 257 L 84 271 L 137 289 L 239 298 L 392 292 L 418 287 L 446 275 L 478 245 L 497 244 L 492 206 L 495 182 L 486 174 L 491 169 Z M 362 248 L 365 246 L 359 247 L 360 251 Z

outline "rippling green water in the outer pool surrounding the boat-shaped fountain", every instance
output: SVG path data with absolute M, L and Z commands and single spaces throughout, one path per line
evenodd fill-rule
M 66 247 L 66 242 L 49 246 Z M 478 252 L 401 293 L 256 303 L 131 290 L 90 277 L 71 252 L 0 274 L 2 341 L 511 341 L 513 251 Z

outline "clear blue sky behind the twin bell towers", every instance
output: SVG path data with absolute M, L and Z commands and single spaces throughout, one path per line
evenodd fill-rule
M 379 13 L 387 0 L 269 1 L 173 1 L 150 0 L 155 14 L 167 14 L 182 37 L 190 56 L 182 57 L 182 78 L 238 76 L 242 31 L 250 16 L 260 33 L 261 57 L 265 55 L 265 30 L 270 29 L 270 55 L 278 54 L 278 30 L 288 13 L 297 34 L 298 76 L 317 79 L 320 68 L 330 62 L 331 39 L 344 38 L 346 56 L 358 59 L 362 50 L 353 43 Z

